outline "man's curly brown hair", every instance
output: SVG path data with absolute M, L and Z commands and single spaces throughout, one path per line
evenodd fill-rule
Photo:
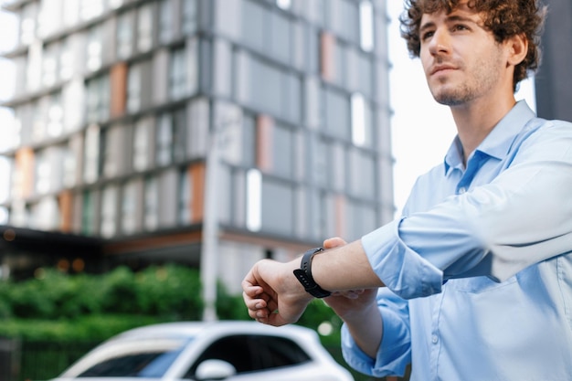
M 419 57 L 421 41 L 419 26 L 424 14 L 444 10 L 450 14 L 461 0 L 406 0 L 406 12 L 400 17 L 401 37 L 405 38 L 411 57 Z M 546 6 L 539 0 L 469 0 L 469 7 L 483 15 L 484 27 L 493 32 L 497 42 L 524 35 L 528 40 L 528 53 L 514 68 L 513 87 L 525 79 L 528 71 L 540 65 L 540 34 L 546 17 Z

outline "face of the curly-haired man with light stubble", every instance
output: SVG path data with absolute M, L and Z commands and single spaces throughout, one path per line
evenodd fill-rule
M 505 47 L 483 28 L 481 16 L 466 1 L 449 15 L 425 14 L 419 38 L 421 62 L 436 101 L 459 106 L 495 97 L 505 86 L 512 89 Z

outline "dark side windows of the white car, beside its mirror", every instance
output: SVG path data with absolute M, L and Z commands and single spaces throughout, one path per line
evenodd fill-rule
M 221 338 L 210 344 L 184 378 L 195 378 L 196 367 L 205 360 L 223 360 L 238 374 L 280 366 L 297 365 L 310 360 L 300 345 L 283 337 L 239 334 Z

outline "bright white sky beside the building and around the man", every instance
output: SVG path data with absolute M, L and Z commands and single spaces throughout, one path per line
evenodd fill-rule
M 2 0 L 0 0 L 0 4 Z M 418 175 L 440 164 L 456 134 L 449 108 L 433 101 L 418 59 L 411 59 L 405 42 L 399 37 L 397 16 L 403 10 L 399 0 L 387 0 L 387 14 L 392 19 L 388 30 L 390 71 L 390 101 L 394 111 L 392 123 L 392 148 L 394 166 L 394 202 L 396 215 L 403 208 L 409 190 Z M 1 12 L 1 11 L 0 11 Z M 0 52 L 13 48 L 14 38 L 10 31 L 16 30 L 14 17 L 0 13 Z M 10 67 L 0 58 L 0 101 L 10 98 L 13 85 L 8 80 Z M 6 76 L 7 74 L 7 76 Z M 7 77 L 7 78 L 6 78 Z M 524 98 L 535 110 L 534 85 L 525 81 L 517 99 Z M 0 132 L 9 112 L 0 108 Z M 0 134 L 0 150 L 2 139 Z M 7 194 L 6 166 L 0 160 L 0 203 Z M 0 208 L 0 224 L 5 223 L 5 213 Z

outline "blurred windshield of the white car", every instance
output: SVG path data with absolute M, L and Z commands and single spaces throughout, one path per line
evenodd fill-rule
M 77 377 L 161 377 L 181 354 L 189 339 L 130 339 L 111 342 L 74 366 Z M 70 369 L 71 370 L 71 369 Z

